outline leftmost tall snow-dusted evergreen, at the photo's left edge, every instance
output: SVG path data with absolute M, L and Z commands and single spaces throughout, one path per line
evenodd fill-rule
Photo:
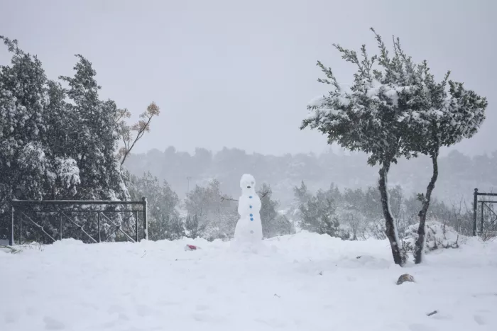
M 62 182 L 74 191 L 80 179 L 74 160 L 50 148 L 57 93 L 40 60 L 16 40 L 0 39 L 12 54 L 11 65 L 0 67 L 0 223 L 6 235 L 12 198 L 40 200 Z

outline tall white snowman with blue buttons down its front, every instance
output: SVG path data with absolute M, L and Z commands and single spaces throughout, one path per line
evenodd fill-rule
M 238 201 L 240 219 L 236 223 L 234 241 L 256 244 L 262 241 L 261 199 L 256 193 L 256 179 L 244 174 L 240 179 L 241 196 Z

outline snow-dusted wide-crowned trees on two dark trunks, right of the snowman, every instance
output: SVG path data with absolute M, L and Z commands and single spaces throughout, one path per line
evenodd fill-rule
M 380 165 L 378 186 L 386 235 L 394 262 L 402 264 L 388 198 L 387 176 L 391 165 L 400 157 L 409 159 L 419 154 L 430 155 L 435 160 L 434 176 L 427 196 L 422 198 L 422 218 L 435 185 L 439 147 L 476 133 L 484 120 L 486 99 L 454 82 L 449 82 L 447 96 L 448 74 L 441 83 L 435 83 L 427 63 L 414 64 L 403 52 L 398 39 L 390 56 L 380 35 L 374 33 L 379 55 L 369 57 L 365 45 L 360 55 L 334 45 L 342 58 L 358 69 L 351 86 L 339 84 L 332 69 L 317 62 L 326 76 L 318 81 L 331 85 L 332 91 L 310 103 L 309 116 L 302 121 L 301 129 L 319 130 L 327 135 L 330 144 L 337 142 L 351 151 L 366 152 L 368 164 Z M 420 224 L 420 245 L 423 227 L 424 223 Z

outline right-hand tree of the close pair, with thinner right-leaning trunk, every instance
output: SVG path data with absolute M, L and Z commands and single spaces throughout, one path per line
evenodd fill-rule
M 485 119 L 488 102 L 474 91 L 464 89 L 463 83 L 449 81 L 450 72 L 441 82 L 435 82 L 426 60 L 415 64 L 400 46 L 399 38 L 395 40 L 393 55 L 389 57 L 381 36 L 375 35 L 381 51 L 378 63 L 384 71 L 376 71 L 374 75 L 385 89 L 386 86 L 397 87 L 397 108 L 401 113 L 396 119 L 403 128 L 400 135 L 402 148 L 415 156 L 424 154 L 432 159 L 432 177 L 426 192 L 419 195 L 422 208 L 415 242 L 415 263 L 420 263 L 425 245 L 426 215 L 438 177 L 440 147 L 473 137 Z

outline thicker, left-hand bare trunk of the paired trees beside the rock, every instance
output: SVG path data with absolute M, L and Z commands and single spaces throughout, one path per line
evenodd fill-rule
M 383 216 L 385 217 L 386 226 L 386 237 L 390 240 L 390 247 L 392 249 L 393 262 L 402 266 L 402 256 L 400 255 L 400 249 L 398 246 L 398 236 L 395 230 L 395 223 L 393 222 L 393 217 L 390 212 L 390 206 L 388 201 L 388 191 L 387 191 L 387 174 L 390 169 L 390 163 L 385 162 L 380 169 L 380 180 L 378 181 L 378 189 L 381 194 L 381 207 L 383 208 Z

